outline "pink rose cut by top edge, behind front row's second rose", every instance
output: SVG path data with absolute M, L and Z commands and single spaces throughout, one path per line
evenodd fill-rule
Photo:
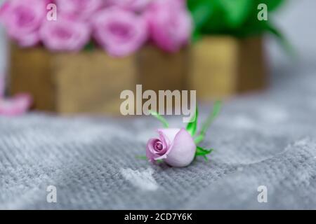
M 99 10 L 104 0 L 55 0 L 57 8 L 62 15 L 74 19 L 87 20 Z

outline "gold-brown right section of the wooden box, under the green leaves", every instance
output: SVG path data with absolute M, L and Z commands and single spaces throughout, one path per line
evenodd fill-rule
M 267 73 L 260 37 L 209 36 L 190 49 L 187 89 L 199 99 L 225 98 L 262 90 Z

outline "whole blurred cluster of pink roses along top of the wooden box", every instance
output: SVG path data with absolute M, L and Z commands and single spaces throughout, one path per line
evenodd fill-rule
M 114 57 L 147 41 L 176 52 L 192 31 L 185 0 L 11 0 L 1 6 L 0 21 L 21 47 L 77 52 L 93 43 Z

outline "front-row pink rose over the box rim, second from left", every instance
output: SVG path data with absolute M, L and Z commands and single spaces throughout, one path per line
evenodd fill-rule
M 90 40 L 90 28 L 86 23 L 59 17 L 46 21 L 39 35 L 46 48 L 53 51 L 79 51 Z

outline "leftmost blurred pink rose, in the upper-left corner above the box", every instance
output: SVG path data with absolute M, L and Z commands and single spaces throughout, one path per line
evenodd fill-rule
M 42 0 L 11 0 L 0 10 L 0 19 L 8 35 L 22 47 L 39 43 L 38 31 L 45 16 L 46 5 Z

